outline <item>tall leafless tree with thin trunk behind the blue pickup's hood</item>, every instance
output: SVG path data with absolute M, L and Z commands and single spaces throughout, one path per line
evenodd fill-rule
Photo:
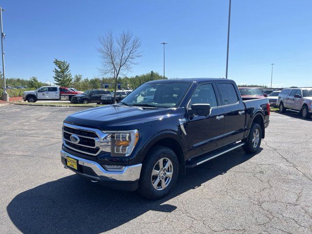
M 115 93 L 114 103 L 116 100 L 117 79 L 119 76 L 126 75 L 133 65 L 137 64 L 135 59 L 141 57 L 139 51 L 141 40 L 134 36 L 131 31 L 123 31 L 116 39 L 111 30 L 105 35 L 98 37 L 100 47 L 98 53 L 101 61 L 99 71 L 102 75 L 114 77 Z

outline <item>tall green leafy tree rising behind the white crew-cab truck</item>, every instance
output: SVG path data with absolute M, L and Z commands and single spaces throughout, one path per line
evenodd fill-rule
M 72 74 L 69 70 L 69 63 L 67 63 L 65 60 L 61 61 L 58 59 L 54 59 L 54 64 L 56 65 L 56 68 L 54 68 L 54 80 L 55 84 L 62 86 L 62 87 L 69 87 L 72 83 Z

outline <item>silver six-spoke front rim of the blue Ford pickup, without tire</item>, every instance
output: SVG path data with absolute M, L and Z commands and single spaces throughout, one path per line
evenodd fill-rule
M 167 188 L 171 182 L 173 170 L 173 164 L 169 158 L 160 158 L 152 171 L 151 182 L 153 187 L 158 191 Z

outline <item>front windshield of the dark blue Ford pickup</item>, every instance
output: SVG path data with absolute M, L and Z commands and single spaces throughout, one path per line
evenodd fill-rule
M 145 83 L 122 100 L 127 105 L 151 106 L 159 108 L 177 107 L 190 83 Z

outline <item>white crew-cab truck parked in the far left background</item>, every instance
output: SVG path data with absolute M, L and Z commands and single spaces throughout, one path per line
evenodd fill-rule
M 73 91 L 66 87 L 43 86 L 35 91 L 23 92 L 23 100 L 28 102 L 36 102 L 37 100 L 64 100 L 68 101 L 75 95 L 80 94 L 79 91 Z

